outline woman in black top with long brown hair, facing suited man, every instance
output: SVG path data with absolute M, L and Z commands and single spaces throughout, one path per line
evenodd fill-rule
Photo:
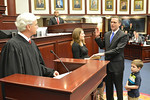
M 85 34 L 83 29 L 75 28 L 72 33 L 72 54 L 73 58 L 76 59 L 84 59 L 89 58 L 88 56 L 88 49 L 85 46 Z

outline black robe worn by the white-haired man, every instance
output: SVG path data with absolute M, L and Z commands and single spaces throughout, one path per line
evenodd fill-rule
M 5 44 L 0 60 L 0 78 L 15 73 L 53 77 L 54 70 L 45 66 L 34 41 L 30 44 L 20 35 Z

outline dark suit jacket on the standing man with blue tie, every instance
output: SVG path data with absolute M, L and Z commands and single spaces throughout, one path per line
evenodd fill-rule
M 105 48 L 105 60 L 110 63 L 107 66 L 109 72 L 123 72 L 124 70 L 124 47 L 127 44 L 127 35 L 118 30 L 110 44 L 111 31 L 104 34 L 103 41 L 96 38 L 95 41 L 100 48 Z

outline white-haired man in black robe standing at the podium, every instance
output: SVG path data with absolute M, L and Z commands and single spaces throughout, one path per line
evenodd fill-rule
M 15 73 L 46 77 L 59 75 L 45 66 L 39 49 L 30 39 L 38 29 L 36 16 L 23 13 L 17 17 L 15 24 L 20 33 L 10 39 L 1 51 L 0 78 Z M 5 99 L 4 88 L 2 83 L 2 96 Z

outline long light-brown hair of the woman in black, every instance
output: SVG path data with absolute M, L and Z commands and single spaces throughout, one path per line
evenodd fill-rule
M 80 46 L 82 46 L 82 43 L 85 45 L 85 40 L 80 40 L 81 31 L 83 31 L 82 28 L 75 28 L 75 29 L 73 30 L 71 45 L 72 45 L 74 42 L 78 43 Z

